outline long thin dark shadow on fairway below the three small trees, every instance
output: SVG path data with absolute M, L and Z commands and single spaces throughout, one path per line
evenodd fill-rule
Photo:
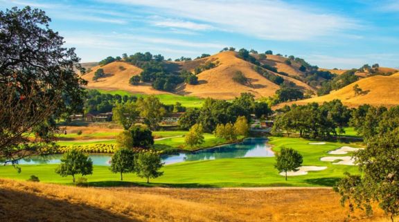
M 217 186 L 199 183 L 145 183 L 129 181 L 96 181 L 87 183 L 89 187 L 182 187 L 182 188 L 216 188 Z

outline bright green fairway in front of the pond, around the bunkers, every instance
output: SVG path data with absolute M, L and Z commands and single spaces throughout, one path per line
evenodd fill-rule
M 181 138 L 176 138 L 181 139 Z M 274 158 L 236 158 L 193 161 L 166 165 L 164 175 L 152 179 L 150 185 L 173 187 L 263 187 L 263 186 L 332 186 L 341 178 L 344 172 L 356 174 L 357 167 L 347 165 L 333 165 L 322 162 L 323 156 L 337 156 L 327 154 L 347 144 L 326 142 L 326 145 L 309 145 L 309 140 L 301 138 L 270 138 L 274 151 L 281 147 L 291 147 L 303 155 L 303 165 L 326 166 L 325 170 L 309 172 L 304 176 L 290 176 L 285 181 L 274 169 Z M 345 156 L 345 155 L 343 155 Z M 56 165 L 22 165 L 22 172 L 18 174 L 11 166 L 0 167 L 0 177 L 26 180 L 30 175 L 38 176 L 46 183 L 71 183 L 71 177 L 62 178 L 55 174 Z M 146 185 L 143 178 L 134 174 L 127 174 L 125 181 L 119 181 L 118 174 L 112 174 L 108 167 L 94 167 L 94 174 L 85 176 L 91 185 Z

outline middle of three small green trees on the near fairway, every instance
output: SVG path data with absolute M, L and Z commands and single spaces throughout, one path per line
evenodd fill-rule
M 111 167 L 109 169 L 114 174 L 121 174 L 121 181 L 123 181 L 123 174 L 134 172 L 134 151 L 132 149 L 118 149 L 112 155 Z

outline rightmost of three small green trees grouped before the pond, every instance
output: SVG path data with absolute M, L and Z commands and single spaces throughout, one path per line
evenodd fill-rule
M 137 176 L 140 178 L 147 178 L 147 183 L 150 183 L 150 178 L 157 178 L 163 175 L 159 169 L 163 166 L 161 157 L 151 151 L 141 152 L 134 158 L 134 166 Z

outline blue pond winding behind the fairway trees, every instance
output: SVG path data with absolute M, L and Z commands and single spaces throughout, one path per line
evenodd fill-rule
M 108 166 L 111 160 L 109 154 L 90 154 L 93 165 Z M 231 145 L 222 145 L 209 149 L 202 149 L 192 153 L 179 153 L 175 155 L 162 156 L 163 162 L 168 165 L 172 163 L 181 163 L 194 160 L 215 160 L 222 158 L 243 158 L 243 157 L 272 157 L 274 152 L 267 145 L 266 138 L 247 138 L 242 142 Z M 61 154 L 50 155 L 46 157 L 33 156 L 19 160 L 20 165 L 36 164 L 58 164 Z

